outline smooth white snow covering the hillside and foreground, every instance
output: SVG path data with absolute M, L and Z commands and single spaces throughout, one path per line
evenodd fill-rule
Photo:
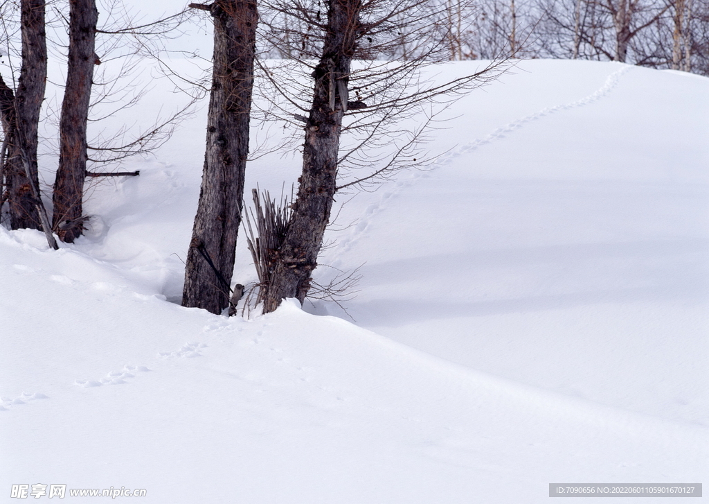
M 695 75 L 545 60 L 471 92 L 436 165 L 342 208 L 321 263 L 364 263 L 352 318 L 175 303 L 202 109 L 140 177 L 96 187 L 75 245 L 0 229 L 0 501 L 35 483 L 151 504 L 706 483 L 708 96 Z M 247 188 L 299 170 L 261 158 Z M 234 281 L 254 279 L 240 240 Z

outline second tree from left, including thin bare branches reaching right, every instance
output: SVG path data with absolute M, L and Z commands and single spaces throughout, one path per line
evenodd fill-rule
M 145 154 L 169 138 L 174 124 L 184 116 L 188 104 L 167 119 L 158 119 L 147 130 L 135 133 L 124 140 L 125 126 L 108 135 L 94 137 L 89 144 L 87 126 L 97 126 L 102 119 L 135 106 L 143 98 L 145 87 L 136 89 L 135 74 L 145 60 L 160 61 L 164 40 L 179 33 L 186 11 L 149 23 L 135 23 L 119 0 L 104 2 L 107 21 L 97 28 L 96 0 L 71 0 L 69 2 L 69 53 L 67 55 L 67 81 L 59 127 L 60 158 L 55 178 L 53 202 L 54 224 L 60 239 L 72 242 L 82 234 L 86 216 L 83 215 L 84 181 L 105 176 L 130 176 L 139 172 L 96 172 L 87 170 L 93 165 L 116 163 L 133 155 Z M 60 17 L 64 18 L 60 12 Z M 96 37 L 103 38 L 96 47 Z M 117 67 L 99 72 L 95 84 L 94 68 L 101 65 Z M 116 65 L 116 63 L 118 65 Z M 130 82 L 130 84 L 128 84 Z M 121 84 L 127 84 L 121 86 Z M 114 104 L 108 111 L 104 104 Z M 90 111 L 103 109 L 99 116 Z

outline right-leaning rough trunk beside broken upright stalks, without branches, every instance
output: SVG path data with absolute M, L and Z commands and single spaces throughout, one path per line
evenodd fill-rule
M 302 303 L 310 289 L 311 273 L 317 265 L 335 196 L 342 114 L 347 109 L 347 82 L 361 7 L 359 0 L 330 1 L 323 55 L 313 72 L 313 104 L 306 124 L 303 173 L 264 312 L 274 311 L 286 297 L 296 297 Z

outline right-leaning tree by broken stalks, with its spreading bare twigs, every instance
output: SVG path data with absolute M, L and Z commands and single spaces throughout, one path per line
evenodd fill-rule
M 435 116 L 433 104 L 450 101 L 493 72 L 487 67 L 440 85 L 421 79 L 427 65 L 452 55 L 450 37 L 441 33 L 439 24 L 447 18 L 445 4 L 330 0 L 325 5 L 277 1 L 267 6 L 312 26 L 306 34 L 317 49 L 294 64 L 265 67 L 262 63 L 270 87 L 261 84 L 259 89 L 281 94 L 282 103 L 275 104 L 280 119 L 304 126 L 305 136 L 296 200 L 283 241 L 272 253 L 264 295 L 264 312 L 271 312 L 286 297 L 303 302 L 311 290 L 311 275 L 335 194 L 385 180 L 396 170 L 420 166 L 423 153 L 418 144 Z M 278 33 L 278 26 L 267 28 Z M 306 34 L 291 33 L 290 40 L 298 44 L 298 37 Z M 266 38 L 282 40 L 271 33 Z M 406 58 L 399 53 L 396 62 L 371 59 L 395 53 L 402 43 L 411 43 L 405 46 Z M 312 66 L 308 57 L 317 57 L 317 64 Z M 310 89 L 301 78 L 304 68 L 310 70 Z M 293 114 L 294 109 L 303 115 Z M 269 110 L 269 114 L 278 116 L 279 111 Z M 414 116 L 420 119 L 414 131 L 398 126 Z M 344 144 L 343 134 L 349 138 Z M 367 171 L 362 174 L 362 170 Z

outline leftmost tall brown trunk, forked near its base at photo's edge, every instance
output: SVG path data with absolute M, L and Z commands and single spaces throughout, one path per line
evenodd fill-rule
M 6 181 L 12 229 L 41 229 L 33 189 L 39 188 L 37 170 L 37 128 L 47 80 L 45 0 L 22 0 L 22 67 L 15 94 L 17 154 L 22 150 L 29 164 L 28 179 L 20 155 L 12 155 L 6 166 Z

